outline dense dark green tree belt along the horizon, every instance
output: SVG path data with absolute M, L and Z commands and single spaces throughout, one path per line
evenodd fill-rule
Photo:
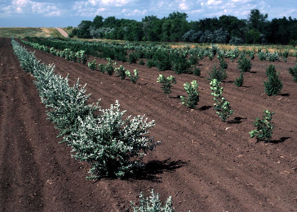
M 93 21 L 82 20 L 70 37 L 107 38 L 127 41 L 162 42 L 212 42 L 230 44 L 290 44 L 297 42 L 297 20 L 273 18 L 259 10 L 250 11 L 247 19 L 232 15 L 219 18 L 204 18 L 190 21 L 188 15 L 172 12 L 162 19 L 150 15 L 141 21 L 117 19 L 114 16 L 103 18 L 97 15 Z

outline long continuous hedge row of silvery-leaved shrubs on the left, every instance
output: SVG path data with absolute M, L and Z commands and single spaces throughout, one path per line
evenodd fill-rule
M 14 39 L 11 41 L 21 67 L 35 77 L 49 119 L 59 129 L 63 142 L 73 148 L 73 157 L 91 165 L 88 179 L 123 177 L 144 166 L 143 157 L 160 142 L 149 136 L 154 120 L 128 116 L 120 111 L 118 101 L 108 109 L 87 104 L 86 85 L 79 80 L 69 86 L 68 77 L 54 73 L 55 66 L 41 64 L 33 52 L 28 52 Z

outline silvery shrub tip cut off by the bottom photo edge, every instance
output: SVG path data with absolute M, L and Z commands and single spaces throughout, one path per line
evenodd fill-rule
M 154 190 L 151 190 L 150 197 L 144 197 L 142 192 L 139 194 L 139 206 L 135 206 L 131 201 L 134 212 L 173 212 L 172 197 L 166 200 L 165 205 L 162 207 L 162 203 L 159 200 L 159 194 L 155 194 Z

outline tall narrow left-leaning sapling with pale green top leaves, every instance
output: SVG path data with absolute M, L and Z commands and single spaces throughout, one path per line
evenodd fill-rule
M 219 114 L 219 117 L 222 119 L 222 121 L 226 122 L 230 115 L 233 113 L 233 110 L 231 110 L 230 102 L 227 102 L 225 97 L 222 96 L 223 87 L 219 88 L 220 84 L 221 82 L 217 79 L 213 79 L 210 82 L 211 95 L 214 96 L 214 109 L 217 110 L 216 113 Z

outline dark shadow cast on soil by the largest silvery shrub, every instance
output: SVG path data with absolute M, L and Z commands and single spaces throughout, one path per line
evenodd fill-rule
M 149 161 L 145 164 L 144 169 L 136 172 L 133 177 L 129 177 L 127 180 L 149 180 L 155 183 L 161 183 L 160 177 L 157 174 L 163 174 L 164 172 L 173 172 L 182 166 L 187 166 L 190 161 L 171 161 L 168 158 L 163 161 Z

